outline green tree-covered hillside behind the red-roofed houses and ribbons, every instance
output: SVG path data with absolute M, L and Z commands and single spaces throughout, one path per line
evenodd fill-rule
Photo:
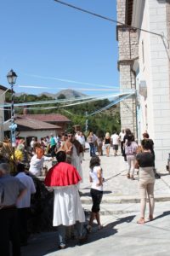
M 10 94 L 9 94 L 10 96 Z M 9 99 L 8 96 L 8 99 Z M 64 99 L 65 95 L 60 94 L 58 99 Z M 52 97 L 42 95 L 21 95 L 14 98 L 14 102 L 41 102 L 41 101 L 50 101 L 53 100 Z M 10 101 L 10 100 L 9 100 Z M 111 102 L 108 99 L 100 100 L 96 102 L 83 103 L 67 108 L 57 108 L 61 105 L 59 103 L 53 104 L 42 104 L 35 106 L 37 109 L 30 109 L 28 113 L 61 113 L 71 119 L 71 124 L 69 125 L 67 131 L 72 130 L 73 125 L 80 125 L 82 131 L 86 131 L 86 119 L 88 119 L 88 131 L 94 131 L 98 136 L 105 136 L 105 132 L 109 131 L 120 131 L 121 121 L 119 113 L 119 105 L 113 106 L 104 112 L 86 116 L 86 113 L 90 114 L 94 111 L 104 108 Z M 31 108 L 34 106 L 31 106 Z M 55 107 L 52 109 L 45 109 L 46 107 Z M 42 110 L 38 108 L 43 108 Z M 23 113 L 22 108 L 15 108 L 15 113 Z

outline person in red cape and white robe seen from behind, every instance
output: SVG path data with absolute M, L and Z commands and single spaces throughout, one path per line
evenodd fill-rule
M 56 158 L 58 163 L 49 169 L 44 183 L 54 189 L 53 225 L 58 227 L 59 248 L 64 249 L 66 227 L 75 224 L 80 242 L 86 241 L 87 232 L 83 227 L 85 215 L 77 188 L 81 177 L 74 166 L 65 162 L 64 151 L 59 151 Z

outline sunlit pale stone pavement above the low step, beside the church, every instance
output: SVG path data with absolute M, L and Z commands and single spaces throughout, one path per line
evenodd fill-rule
M 112 154 L 112 151 L 111 151 Z M 84 161 L 82 161 L 83 183 L 81 184 L 82 201 L 87 201 L 90 197 L 90 183 L 88 178 L 89 172 L 89 154 L 86 153 Z M 127 162 L 124 161 L 122 155 L 110 157 L 101 156 L 101 166 L 105 177 L 104 197 L 105 201 L 112 203 L 121 202 L 139 202 L 138 176 L 135 171 L 135 180 L 127 179 Z M 158 171 L 159 172 L 159 171 Z M 156 179 L 155 197 L 156 201 L 170 200 L 170 175 L 165 168 L 165 172 L 161 173 L 161 178 Z

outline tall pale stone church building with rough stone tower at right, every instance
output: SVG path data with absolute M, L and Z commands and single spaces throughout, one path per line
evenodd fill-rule
M 156 167 L 164 170 L 170 153 L 170 1 L 117 0 L 117 20 L 128 26 L 117 26 L 121 87 L 136 88 L 136 101 L 130 104 L 136 105 L 137 135 L 140 140 L 144 131 L 149 132 L 155 143 Z M 133 119 L 127 113 L 129 124 Z

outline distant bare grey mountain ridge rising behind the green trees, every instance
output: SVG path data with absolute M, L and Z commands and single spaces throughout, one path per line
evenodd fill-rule
M 25 92 L 21 92 L 21 93 L 16 93 L 15 96 L 22 96 L 22 95 L 27 95 L 27 93 Z M 77 90 L 71 90 L 71 89 L 66 89 L 66 90 L 60 90 L 58 93 L 53 94 L 53 93 L 48 93 L 46 91 L 42 92 L 41 94 L 38 94 L 37 96 L 42 96 L 42 95 L 46 95 L 48 97 L 52 97 L 54 99 L 56 99 L 58 96 L 60 95 L 64 95 L 66 99 L 71 99 L 71 98 L 78 98 L 78 97 L 82 97 L 82 96 L 88 96 L 86 94 L 83 94 Z

